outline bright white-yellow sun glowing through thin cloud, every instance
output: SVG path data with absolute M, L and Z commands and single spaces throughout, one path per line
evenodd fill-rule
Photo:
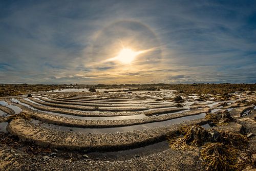
M 119 54 L 116 56 L 116 59 L 122 63 L 131 63 L 135 57 L 140 54 L 139 52 L 135 52 L 132 49 L 122 49 Z

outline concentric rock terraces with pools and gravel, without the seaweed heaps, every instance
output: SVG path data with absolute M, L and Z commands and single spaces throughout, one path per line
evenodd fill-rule
M 220 129 L 255 135 L 255 90 L 88 90 L 0 97 L 0 170 L 205 170 L 199 151 L 170 149 L 167 137 L 211 129 L 209 113 L 228 111 Z

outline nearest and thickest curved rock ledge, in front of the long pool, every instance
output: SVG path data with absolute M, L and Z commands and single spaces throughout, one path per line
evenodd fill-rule
M 17 119 L 12 120 L 7 130 L 11 135 L 23 141 L 32 141 L 38 145 L 69 149 L 118 150 L 138 147 L 166 139 L 168 133 L 175 133 L 184 124 L 205 124 L 206 119 L 188 121 L 186 123 L 111 134 L 78 134 L 55 131 L 36 126 L 33 123 Z

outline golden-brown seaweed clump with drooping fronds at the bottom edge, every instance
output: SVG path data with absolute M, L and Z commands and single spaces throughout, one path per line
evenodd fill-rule
M 220 142 L 202 147 L 201 156 L 206 161 L 206 170 L 234 170 L 238 151 Z

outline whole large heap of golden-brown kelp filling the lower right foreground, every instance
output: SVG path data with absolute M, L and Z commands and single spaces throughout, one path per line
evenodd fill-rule
M 179 131 L 182 138 L 174 134 L 168 136 L 169 147 L 175 150 L 193 150 L 202 147 L 201 157 L 205 160 L 207 170 L 242 169 L 237 161 L 240 149 L 246 147 L 248 139 L 228 131 L 205 130 L 199 125 L 182 127 Z M 176 136 L 177 137 L 177 136 Z

